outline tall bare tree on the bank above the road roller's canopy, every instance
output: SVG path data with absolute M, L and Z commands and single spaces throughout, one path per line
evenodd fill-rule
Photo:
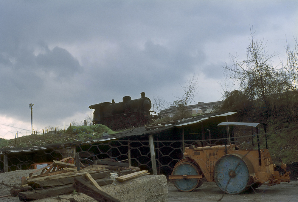
M 269 112 L 272 95 L 282 93 L 285 89 L 285 74 L 280 72 L 282 70 L 276 70 L 271 63 L 271 59 L 277 56 L 277 53 L 268 54 L 264 39 L 255 39 L 255 31 L 252 28 L 250 31 L 250 45 L 246 49 L 247 59 L 239 60 L 237 55 L 230 54 L 234 65 L 226 65 L 224 69 L 230 78 L 240 82 L 240 89 L 249 99 L 261 100 Z

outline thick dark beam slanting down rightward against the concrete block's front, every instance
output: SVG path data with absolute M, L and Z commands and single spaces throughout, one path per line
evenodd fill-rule
M 112 197 L 111 195 L 103 192 L 90 184 L 89 181 L 81 177 L 75 177 L 75 183 L 73 184 L 74 188 L 78 192 L 82 192 L 97 201 L 110 201 L 110 202 L 121 202 L 118 199 Z

